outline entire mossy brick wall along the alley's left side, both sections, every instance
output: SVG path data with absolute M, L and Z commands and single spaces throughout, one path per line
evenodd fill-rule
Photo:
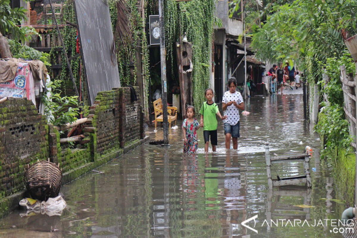
M 0 213 L 2 198 L 22 191 L 24 168 L 37 159 L 50 158 L 63 173 L 115 158 L 123 148 L 144 138 L 139 88 L 138 100 L 130 101 L 130 88 L 100 92 L 90 108 L 82 142 L 77 148 L 63 149 L 60 134 L 47 125 L 31 101 L 10 98 L 0 103 Z M 73 179 L 82 175 L 76 172 Z M 72 178 L 72 177 L 71 177 Z

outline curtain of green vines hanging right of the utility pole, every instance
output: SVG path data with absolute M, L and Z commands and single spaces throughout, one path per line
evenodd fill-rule
M 165 1 L 165 39 L 167 54 L 173 55 L 178 39 L 178 19 L 181 32 L 187 32 L 188 41 L 193 44 L 192 92 L 196 108 L 205 101 L 204 91 L 210 85 L 210 50 L 215 21 L 214 0 L 192 0 L 180 2 L 180 11 L 175 0 Z M 173 57 L 171 57 L 173 58 Z M 172 67 L 175 67 L 171 59 Z

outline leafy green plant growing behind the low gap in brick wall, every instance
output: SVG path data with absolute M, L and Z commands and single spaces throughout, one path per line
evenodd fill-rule
M 51 88 L 50 96 L 44 96 L 45 115 L 47 120 L 55 126 L 74 122 L 79 115 L 78 97 L 62 96 L 61 83 L 61 80 L 47 83 L 46 87 Z

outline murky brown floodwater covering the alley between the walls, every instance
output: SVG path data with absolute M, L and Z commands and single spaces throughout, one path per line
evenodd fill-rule
M 344 204 L 332 200 L 331 170 L 320 163 L 320 141 L 303 120 L 302 95 L 256 96 L 246 105 L 251 114 L 241 116 L 237 151 L 226 151 L 220 122 L 217 153 L 210 147 L 205 155 L 200 129 L 197 156 L 183 156 L 179 121 L 177 130 L 170 129 L 170 147 L 142 145 L 97 169 L 104 173 L 66 184 L 62 216 L 11 213 L 0 220 L 0 237 L 341 237 L 333 233 L 336 223 L 324 220 L 338 219 Z M 147 135 L 160 140 L 162 128 Z M 266 142 L 272 155 L 314 149 L 312 189 L 268 191 Z M 272 167 L 273 178 L 302 173 L 297 162 Z M 247 223 L 256 231 L 242 226 L 256 215 L 255 226 Z

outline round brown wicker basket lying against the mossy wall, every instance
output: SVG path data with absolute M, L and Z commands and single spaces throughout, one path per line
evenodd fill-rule
M 26 170 L 24 180 L 32 198 L 47 201 L 58 196 L 62 171 L 55 163 L 39 161 Z

